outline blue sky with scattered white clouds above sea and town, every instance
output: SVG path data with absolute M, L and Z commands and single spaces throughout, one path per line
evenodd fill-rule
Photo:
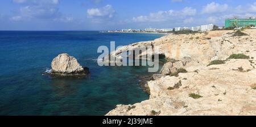
M 90 31 L 224 26 L 256 16 L 255 0 L 1 0 L 0 30 Z

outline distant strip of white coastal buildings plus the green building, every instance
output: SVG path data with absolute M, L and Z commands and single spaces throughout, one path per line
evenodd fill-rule
M 170 33 L 170 32 L 178 32 L 178 31 L 191 31 L 191 32 L 207 32 L 212 30 L 220 30 L 220 29 L 240 29 L 242 27 L 251 27 L 255 28 L 256 19 L 255 18 L 247 18 L 247 19 L 238 19 L 237 17 L 233 19 L 225 20 L 225 27 L 218 27 L 214 24 L 205 24 L 196 27 L 175 27 L 175 28 L 146 28 L 146 29 L 121 29 L 121 30 L 112 30 L 105 32 L 134 32 L 134 33 Z

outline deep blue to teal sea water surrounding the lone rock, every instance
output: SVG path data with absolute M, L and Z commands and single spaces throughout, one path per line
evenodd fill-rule
M 163 35 L 84 31 L 0 31 L 0 115 L 105 115 L 117 104 L 148 99 L 138 84 L 147 67 L 97 65 L 98 46 Z M 89 67 L 90 79 L 42 75 L 60 53 Z

